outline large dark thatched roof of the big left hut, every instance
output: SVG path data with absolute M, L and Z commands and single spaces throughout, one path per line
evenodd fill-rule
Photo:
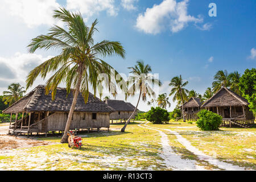
M 57 88 L 55 100 L 52 100 L 51 92 L 48 95 L 45 93 L 45 86 L 39 85 L 19 101 L 3 110 L 3 113 L 70 110 L 73 101 L 73 92 L 69 93 L 67 96 L 67 90 L 65 88 Z M 94 97 L 92 93 L 89 93 L 88 102 L 85 104 L 84 97 L 79 93 L 75 111 L 112 113 L 114 112 L 114 109 L 106 105 L 105 102 L 102 102 L 99 98 Z

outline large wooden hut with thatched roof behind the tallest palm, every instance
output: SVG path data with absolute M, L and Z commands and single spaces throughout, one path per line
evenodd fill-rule
M 67 95 L 65 88 L 57 88 L 55 100 L 51 92 L 46 95 L 44 85 L 37 86 L 26 96 L 3 110 L 3 113 L 16 114 L 16 119 L 10 120 L 9 133 L 32 134 L 48 133 L 49 131 L 64 131 L 68 113 L 73 101 L 73 92 Z M 100 129 L 109 128 L 109 114 L 114 109 L 89 93 L 88 102 L 79 93 L 70 129 Z M 18 113 L 22 119 L 17 120 Z

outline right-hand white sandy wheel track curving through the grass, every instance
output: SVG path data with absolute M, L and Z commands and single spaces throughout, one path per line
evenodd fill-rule
M 156 127 L 147 126 L 147 123 L 144 124 L 144 126 L 146 126 L 148 129 L 152 129 L 152 130 L 159 129 Z M 210 164 L 217 166 L 220 169 L 225 169 L 225 170 L 229 170 L 229 171 L 244 171 L 245 170 L 245 168 L 243 168 L 243 167 L 234 166 L 233 164 L 222 162 L 212 156 L 204 154 L 203 152 L 198 150 L 196 147 L 192 146 L 192 144 L 187 139 L 183 138 L 176 131 L 173 131 L 170 129 L 159 129 L 159 130 L 165 130 L 171 134 L 174 134 L 177 137 L 177 141 L 180 142 L 185 148 L 187 148 L 187 150 L 189 150 L 193 154 L 195 154 L 200 160 L 205 160 L 205 161 L 209 162 Z

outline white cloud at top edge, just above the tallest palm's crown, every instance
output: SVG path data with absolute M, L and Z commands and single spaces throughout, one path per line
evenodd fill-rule
M 67 0 L 67 8 L 79 10 L 86 18 L 100 11 L 107 11 L 111 16 L 118 14 L 118 9 L 114 6 L 114 0 Z

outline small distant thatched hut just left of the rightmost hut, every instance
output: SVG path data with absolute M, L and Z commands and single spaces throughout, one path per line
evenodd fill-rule
M 196 121 L 198 119 L 196 114 L 199 112 L 200 107 L 201 107 L 200 98 L 196 98 L 196 97 L 189 98 L 189 100 L 183 104 L 185 119 Z

